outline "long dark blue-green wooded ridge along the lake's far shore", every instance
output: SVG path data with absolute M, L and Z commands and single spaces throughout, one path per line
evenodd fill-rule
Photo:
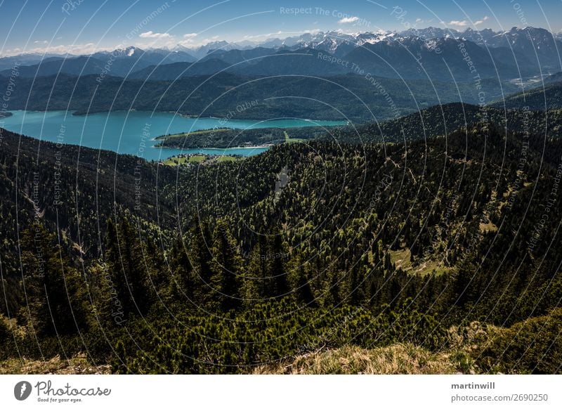
M 178 70 L 182 69 L 181 64 L 178 63 Z M 156 72 L 159 73 L 159 67 Z M 0 88 L 8 83 L 8 78 L 0 78 Z M 461 98 L 464 103 L 478 103 L 481 91 L 473 82 L 459 82 L 452 88 L 446 82 L 405 82 L 352 74 L 335 77 L 291 74 L 261 78 L 228 72 L 210 77 L 182 77 L 174 82 L 124 81 L 115 77 L 98 81 L 94 75 L 79 79 L 60 75 L 58 79 L 41 77 L 34 81 L 20 78 L 15 86 L 18 92 L 13 93 L 8 106 L 12 110 L 70 109 L 85 113 L 103 112 L 111 107 L 112 110 L 178 111 L 203 117 L 226 117 L 229 112 L 236 111 L 236 119 L 300 117 L 350 119 L 354 122 L 396 118 Z M 490 100 L 520 89 L 514 84 L 491 79 L 483 80 L 481 87 L 485 89 L 485 98 Z M 257 101 L 257 105 L 238 112 L 237 106 L 249 101 Z

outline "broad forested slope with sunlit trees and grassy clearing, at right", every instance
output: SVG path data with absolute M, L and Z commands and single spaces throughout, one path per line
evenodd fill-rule
M 513 210 L 528 204 L 526 196 L 535 183 L 548 186 L 548 175 L 555 174 L 547 167 L 536 181 L 542 161 L 540 141 L 525 145 L 525 136 L 510 134 L 505 140 L 495 130 L 487 137 L 484 132 L 482 127 L 471 128 L 468 134 L 457 131 L 450 138 L 412 143 L 407 149 L 398 144 L 280 146 L 230 165 L 241 168 L 235 171 L 223 166 L 187 172 L 179 182 L 182 192 L 190 192 L 189 186 L 206 186 L 204 180 L 216 186 L 188 195 L 197 197 L 197 207 L 192 200 L 179 198 L 185 209 L 183 223 L 189 223 L 195 212 L 204 219 L 228 219 L 242 253 L 254 247 L 252 232 L 268 231 L 272 223 L 283 226 L 285 252 L 292 254 L 294 249 L 314 266 L 313 271 L 322 268 L 349 280 L 351 266 L 361 281 L 377 263 L 383 270 L 392 269 L 389 261 L 396 263 L 400 256 L 400 264 L 407 261 L 410 272 L 431 273 L 427 266 L 436 273 L 455 271 L 468 262 L 466 247 L 488 244 L 488 235 L 502 223 L 513 225 L 514 231 L 519 223 L 532 226 L 536 220 L 522 221 Z M 504 150 L 509 157 L 525 160 L 530 170 L 523 180 L 518 162 L 502 164 Z M 544 159 L 554 166 L 559 143 L 552 143 L 549 151 Z M 277 195 L 275 180 L 282 167 L 287 167 L 290 182 Z M 549 190 L 542 192 L 547 195 Z M 500 237 L 506 235 L 502 240 L 518 243 L 514 263 L 526 253 L 530 232 L 532 228 L 514 236 L 509 229 L 499 229 Z M 480 250 L 474 252 L 478 257 Z M 334 283 L 340 278 L 333 278 Z M 322 294 L 322 286 L 311 290 Z

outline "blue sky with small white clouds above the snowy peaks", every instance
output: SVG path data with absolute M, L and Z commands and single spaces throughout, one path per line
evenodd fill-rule
M 306 31 L 513 26 L 562 31 L 562 0 L 0 0 L 0 54 L 197 46 Z

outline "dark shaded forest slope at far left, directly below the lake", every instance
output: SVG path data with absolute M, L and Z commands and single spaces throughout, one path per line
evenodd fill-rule
M 100 216 L 105 224 L 107 217 L 129 209 L 155 221 L 157 205 L 169 206 L 162 200 L 157 204 L 155 186 L 174 181 L 170 169 L 132 155 L 38 141 L 5 129 L 0 135 L 2 220 L 14 223 L 4 231 L 8 238 L 16 237 L 16 218 L 20 228 L 40 219 L 82 247 L 81 235 L 88 243 L 82 250 L 97 254 Z M 169 221 L 162 219 L 160 225 L 169 226 Z

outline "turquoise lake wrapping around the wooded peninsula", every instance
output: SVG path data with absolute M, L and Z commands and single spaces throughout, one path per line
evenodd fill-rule
M 146 160 L 162 160 L 180 153 L 207 155 L 257 155 L 268 148 L 168 149 L 154 148 L 152 138 L 165 134 L 198 131 L 228 126 L 233 129 L 294 128 L 301 126 L 334 126 L 337 121 L 306 119 L 273 119 L 267 121 L 229 120 L 221 125 L 218 118 L 188 118 L 171 112 L 103 112 L 72 115 L 70 111 L 11 111 L 0 119 L 0 127 L 42 141 L 70 143 L 87 148 L 112 150 L 138 155 Z

